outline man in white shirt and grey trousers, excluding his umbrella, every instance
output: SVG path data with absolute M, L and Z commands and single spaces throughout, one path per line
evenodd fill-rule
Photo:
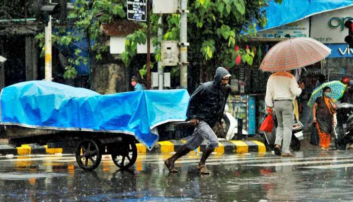
M 298 85 L 296 78 L 284 71 L 273 73 L 267 81 L 265 102 L 269 111 L 274 109 L 277 118 L 274 150 L 278 156 L 295 156 L 289 150 L 294 120 L 293 100 L 302 93 L 304 87 L 303 82 Z

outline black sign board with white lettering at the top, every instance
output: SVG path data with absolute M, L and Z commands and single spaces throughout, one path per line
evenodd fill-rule
M 147 0 L 127 0 L 128 20 L 146 21 Z

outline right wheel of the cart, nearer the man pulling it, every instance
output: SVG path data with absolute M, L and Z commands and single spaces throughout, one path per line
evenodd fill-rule
M 121 169 L 128 169 L 133 166 L 137 159 L 137 147 L 134 141 L 122 143 L 111 154 L 114 164 Z

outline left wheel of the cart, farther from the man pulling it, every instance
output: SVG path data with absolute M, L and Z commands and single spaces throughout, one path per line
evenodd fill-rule
M 76 162 L 83 170 L 94 170 L 99 166 L 102 155 L 98 144 L 92 139 L 84 139 L 76 149 Z

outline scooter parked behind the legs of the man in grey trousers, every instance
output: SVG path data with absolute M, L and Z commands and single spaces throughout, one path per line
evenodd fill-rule
M 265 117 L 267 117 L 267 114 L 265 114 Z M 277 128 L 277 119 L 275 116 L 273 116 L 275 126 L 273 127 L 271 132 L 264 132 L 263 137 L 264 137 L 264 144 L 266 146 L 267 151 L 271 151 L 274 149 L 274 143 L 276 140 L 276 128 Z M 290 148 L 294 151 L 299 151 L 301 147 L 301 140 L 304 139 L 303 135 L 303 124 L 298 121 L 295 124 L 292 124 L 291 126 L 292 129 L 292 136 L 291 136 L 291 141 L 290 141 Z

